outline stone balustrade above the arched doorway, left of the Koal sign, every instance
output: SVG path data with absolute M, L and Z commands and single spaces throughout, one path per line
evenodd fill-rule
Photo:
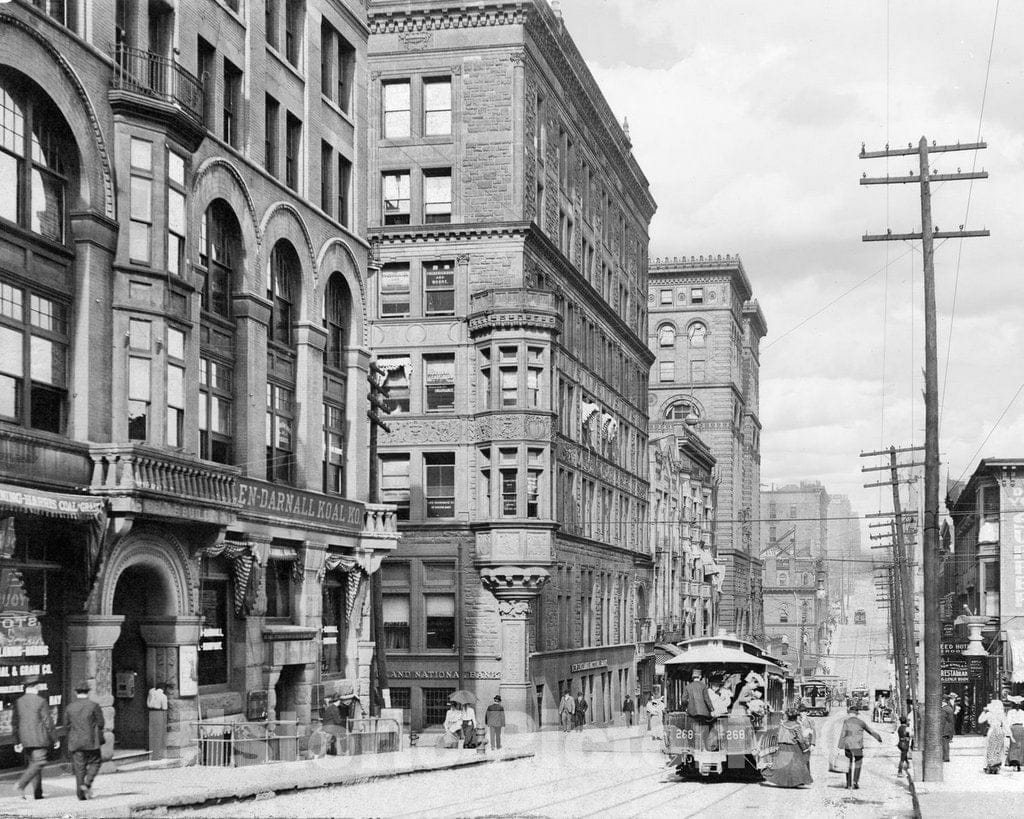
M 156 493 L 184 502 L 234 505 L 238 469 L 199 464 L 140 444 L 93 446 L 94 494 Z

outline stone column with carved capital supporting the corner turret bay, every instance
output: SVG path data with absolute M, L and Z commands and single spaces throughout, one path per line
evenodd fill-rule
M 498 599 L 501 617 L 502 682 L 499 690 L 509 726 L 531 730 L 534 683 L 529 677 L 529 604 L 550 579 L 540 566 L 488 566 L 480 570 L 480 583 Z

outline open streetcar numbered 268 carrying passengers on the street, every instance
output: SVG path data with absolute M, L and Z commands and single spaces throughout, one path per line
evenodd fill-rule
M 793 703 L 792 672 L 760 646 L 735 637 L 696 637 L 677 645 L 681 653 L 665 662 L 668 764 L 683 778 L 767 768 L 778 750 L 782 712 Z M 729 714 L 710 721 L 686 714 L 686 684 L 697 670 L 706 681 L 736 681 Z M 756 689 L 766 705 L 748 709 L 740 700 Z

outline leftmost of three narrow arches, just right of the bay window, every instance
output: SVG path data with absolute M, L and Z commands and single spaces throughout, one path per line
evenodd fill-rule
M 221 199 L 233 211 L 234 218 L 242 230 L 242 251 L 245 256 L 239 265 L 245 278 L 238 283 L 240 290 L 259 293 L 263 284 L 255 281 L 259 276 L 259 265 L 255 264 L 260 257 L 260 226 L 256 220 L 256 206 L 245 178 L 233 163 L 222 157 L 215 157 L 204 162 L 193 179 L 190 224 L 199 224 L 205 218 L 207 208 L 216 200 Z M 248 218 L 245 218 L 248 217 Z M 191 258 L 198 259 L 202 249 L 199 247 L 200 231 L 189 231 L 189 252 Z

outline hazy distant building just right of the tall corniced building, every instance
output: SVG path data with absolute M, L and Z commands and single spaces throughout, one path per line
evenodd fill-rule
M 830 499 L 817 481 L 762 489 L 766 513 L 765 635 L 772 648 L 813 674 L 835 627 L 830 611 Z

